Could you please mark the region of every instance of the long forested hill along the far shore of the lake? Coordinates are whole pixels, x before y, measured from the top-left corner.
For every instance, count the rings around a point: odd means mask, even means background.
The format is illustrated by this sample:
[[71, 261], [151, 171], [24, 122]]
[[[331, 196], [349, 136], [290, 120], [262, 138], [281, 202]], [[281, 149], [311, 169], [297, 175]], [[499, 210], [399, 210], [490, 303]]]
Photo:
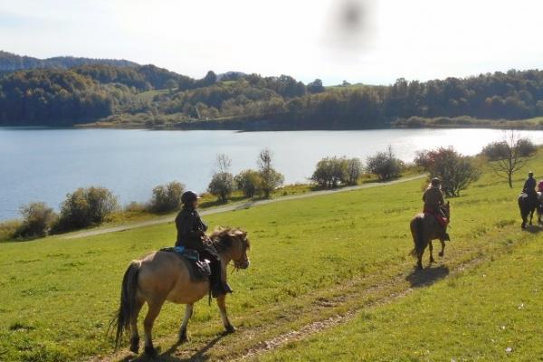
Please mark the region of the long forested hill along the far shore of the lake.
[[543, 71], [399, 79], [389, 86], [345, 81], [336, 87], [239, 71], [209, 71], [195, 80], [154, 65], [84, 64], [0, 78], [4, 125], [100, 121], [102, 126], [153, 129], [368, 129], [417, 126], [421, 118], [446, 123], [444, 118], [460, 116], [543, 116]]

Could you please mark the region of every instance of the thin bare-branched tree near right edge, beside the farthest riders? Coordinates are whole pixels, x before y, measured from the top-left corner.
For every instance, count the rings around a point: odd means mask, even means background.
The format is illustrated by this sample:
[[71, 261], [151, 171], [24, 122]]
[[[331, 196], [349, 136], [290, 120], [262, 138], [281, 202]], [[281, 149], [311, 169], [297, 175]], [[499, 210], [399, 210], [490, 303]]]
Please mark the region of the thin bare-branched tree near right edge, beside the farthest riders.
[[526, 138], [519, 138], [518, 132], [511, 129], [504, 133], [503, 139], [496, 144], [500, 145], [501, 151], [494, 157], [494, 162], [491, 162], [491, 168], [496, 175], [507, 179], [510, 188], [513, 188], [513, 174], [524, 167], [536, 152], [535, 147], [527, 151], [527, 142], [531, 143]]

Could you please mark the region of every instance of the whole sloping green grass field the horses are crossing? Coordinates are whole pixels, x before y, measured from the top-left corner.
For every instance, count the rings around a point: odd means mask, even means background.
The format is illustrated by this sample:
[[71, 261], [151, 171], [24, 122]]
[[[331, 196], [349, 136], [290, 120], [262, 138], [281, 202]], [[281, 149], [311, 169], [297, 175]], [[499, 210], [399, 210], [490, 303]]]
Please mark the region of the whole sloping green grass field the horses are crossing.
[[[251, 268], [231, 275], [228, 308], [238, 331], [222, 336], [216, 307], [201, 301], [191, 342], [176, 346], [183, 307], [167, 304], [154, 333], [160, 359], [252, 352], [273, 360], [496, 360], [508, 347], [513, 359], [541, 355], [543, 245], [538, 228], [520, 231], [516, 196], [524, 174], [511, 190], [487, 170], [452, 199], [452, 243], [423, 272], [408, 256], [421, 180], [206, 217], [212, 227], [243, 227], [252, 242]], [[163, 224], [1, 243], [0, 360], [129, 356], [112, 356], [105, 337], [122, 274], [130, 260], [174, 243], [175, 234], [173, 224]], [[310, 345], [292, 340], [266, 352], [267, 341], [346, 315], [352, 319], [312, 335]]]

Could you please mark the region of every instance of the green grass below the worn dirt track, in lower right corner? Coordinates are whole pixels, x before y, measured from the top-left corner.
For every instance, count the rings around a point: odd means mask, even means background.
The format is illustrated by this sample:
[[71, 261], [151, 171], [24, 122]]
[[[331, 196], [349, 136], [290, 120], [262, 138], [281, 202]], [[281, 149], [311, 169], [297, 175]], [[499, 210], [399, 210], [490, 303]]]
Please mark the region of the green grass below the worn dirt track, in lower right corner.
[[535, 240], [519, 243], [473, 270], [364, 310], [260, 360], [536, 360], [543, 355], [542, 256]]

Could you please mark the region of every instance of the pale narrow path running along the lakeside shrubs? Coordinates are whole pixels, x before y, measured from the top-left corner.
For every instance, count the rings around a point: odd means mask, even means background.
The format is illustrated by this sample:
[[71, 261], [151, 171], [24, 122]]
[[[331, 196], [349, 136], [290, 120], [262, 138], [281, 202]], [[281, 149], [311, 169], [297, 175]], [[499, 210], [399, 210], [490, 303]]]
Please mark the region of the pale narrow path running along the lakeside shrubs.
[[[308, 197], [316, 197], [320, 195], [330, 195], [330, 194], [337, 194], [342, 192], [348, 192], [348, 191], [354, 191], [354, 190], [360, 190], [365, 188], [373, 188], [373, 187], [380, 187], [380, 186], [390, 186], [395, 184], [401, 184], [404, 182], [409, 182], [413, 180], [417, 180], [420, 178], [425, 177], [426, 175], [418, 175], [418, 176], [410, 176], [405, 178], [400, 178], [394, 181], [389, 182], [383, 182], [383, 183], [371, 183], [371, 184], [364, 184], [359, 186], [348, 186], [348, 187], [342, 187], [338, 189], [333, 190], [322, 190], [322, 191], [314, 191], [306, 194], [300, 194], [300, 195], [291, 195], [291, 196], [281, 196], [278, 198], [271, 198], [267, 200], [258, 200], [253, 201], [245, 204], [238, 204], [238, 205], [227, 205], [227, 206], [221, 206], [221, 207], [214, 207], [208, 210], [203, 210], [200, 212], [201, 215], [208, 215], [208, 214], [220, 214], [220, 213], [226, 213], [229, 211], [234, 210], [243, 210], [248, 209], [254, 206], [260, 206], [260, 205], [266, 205], [271, 203], [278, 203], [281, 201], [289, 201], [289, 200], [298, 200], [302, 198], [308, 198]], [[137, 229], [139, 227], [146, 227], [146, 226], [153, 226], [153, 225], [159, 225], [159, 224], [167, 224], [172, 223], [174, 221], [173, 216], [167, 216], [167, 217], [161, 217], [153, 220], [148, 220], [140, 223], [134, 223], [134, 224], [124, 224], [119, 226], [111, 226], [106, 227], [102, 229], [95, 229], [95, 230], [89, 230], [89, 231], [83, 231], [83, 232], [77, 232], [77, 233], [69, 233], [65, 236], [62, 236], [62, 239], [79, 239], [82, 237], [88, 237], [88, 236], [94, 236], [94, 235], [101, 235], [102, 233], [115, 233], [115, 232], [124, 232], [127, 230]]]

